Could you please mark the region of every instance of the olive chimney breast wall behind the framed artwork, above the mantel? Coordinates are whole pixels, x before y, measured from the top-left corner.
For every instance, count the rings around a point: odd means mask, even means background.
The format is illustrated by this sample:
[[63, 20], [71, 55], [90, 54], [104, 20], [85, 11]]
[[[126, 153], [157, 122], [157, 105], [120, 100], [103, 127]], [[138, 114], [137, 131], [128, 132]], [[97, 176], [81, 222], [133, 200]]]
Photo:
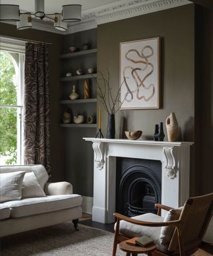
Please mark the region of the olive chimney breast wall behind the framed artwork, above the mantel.
[[[160, 37], [160, 109], [122, 110], [116, 114], [116, 138], [126, 130], [142, 130], [144, 139], [152, 139], [154, 125], [165, 123], [170, 112], [176, 113], [180, 127], [178, 140], [194, 141], [194, 5], [168, 9], [139, 17], [99, 25], [97, 29], [98, 69], [110, 71], [112, 87], [118, 88], [119, 44], [125, 41]], [[115, 89], [115, 91], [116, 91]], [[106, 135], [107, 113], [103, 111]], [[164, 133], [166, 128], [164, 125]], [[165, 137], [167, 140], [167, 135]], [[198, 189], [191, 163], [192, 194]]]

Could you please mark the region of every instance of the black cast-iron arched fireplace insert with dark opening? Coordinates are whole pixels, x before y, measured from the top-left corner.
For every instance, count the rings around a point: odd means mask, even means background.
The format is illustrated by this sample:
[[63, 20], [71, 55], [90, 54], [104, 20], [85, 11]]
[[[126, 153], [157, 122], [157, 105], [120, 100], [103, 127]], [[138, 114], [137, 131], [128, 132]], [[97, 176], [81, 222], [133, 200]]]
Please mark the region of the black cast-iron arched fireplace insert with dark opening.
[[161, 203], [161, 181], [149, 167], [133, 165], [122, 172], [118, 183], [116, 210], [130, 217], [156, 213], [155, 203]]

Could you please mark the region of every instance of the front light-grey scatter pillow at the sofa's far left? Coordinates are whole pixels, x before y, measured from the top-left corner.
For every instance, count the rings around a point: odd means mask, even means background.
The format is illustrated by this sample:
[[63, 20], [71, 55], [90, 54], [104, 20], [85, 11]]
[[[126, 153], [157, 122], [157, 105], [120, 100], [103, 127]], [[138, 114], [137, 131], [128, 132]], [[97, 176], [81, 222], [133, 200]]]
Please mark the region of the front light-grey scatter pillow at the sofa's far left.
[[24, 175], [25, 171], [0, 173], [0, 203], [21, 199], [21, 186]]

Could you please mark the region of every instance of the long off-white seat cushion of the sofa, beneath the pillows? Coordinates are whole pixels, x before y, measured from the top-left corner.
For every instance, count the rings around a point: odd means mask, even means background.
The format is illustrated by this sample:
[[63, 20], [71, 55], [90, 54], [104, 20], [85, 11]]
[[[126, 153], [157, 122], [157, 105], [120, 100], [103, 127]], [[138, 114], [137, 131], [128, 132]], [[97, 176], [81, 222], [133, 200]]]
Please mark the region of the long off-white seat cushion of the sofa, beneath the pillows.
[[5, 202], [3, 205], [11, 207], [12, 218], [19, 218], [77, 207], [80, 206], [81, 203], [81, 195], [72, 194], [26, 198], [21, 201]]

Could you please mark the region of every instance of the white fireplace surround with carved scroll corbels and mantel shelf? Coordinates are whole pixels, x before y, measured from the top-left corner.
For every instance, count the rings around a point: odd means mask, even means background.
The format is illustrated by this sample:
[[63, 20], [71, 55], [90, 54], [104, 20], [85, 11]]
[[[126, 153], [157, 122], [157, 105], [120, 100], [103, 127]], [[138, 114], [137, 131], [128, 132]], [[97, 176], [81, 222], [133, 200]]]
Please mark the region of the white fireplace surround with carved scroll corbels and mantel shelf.
[[93, 143], [94, 150], [93, 221], [114, 222], [116, 157], [160, 160], [161, 203], [179, 207], [188, 199], [192, 142], [84, 139]]

